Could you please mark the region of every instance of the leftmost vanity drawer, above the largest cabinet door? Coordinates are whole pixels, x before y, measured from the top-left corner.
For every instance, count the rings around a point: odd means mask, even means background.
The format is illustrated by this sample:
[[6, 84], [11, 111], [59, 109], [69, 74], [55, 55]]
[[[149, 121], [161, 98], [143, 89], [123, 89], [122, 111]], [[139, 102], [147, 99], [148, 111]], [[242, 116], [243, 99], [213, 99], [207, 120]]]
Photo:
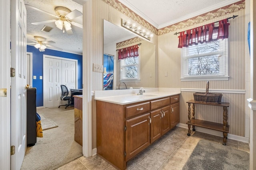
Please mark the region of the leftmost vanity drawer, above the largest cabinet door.
[[126, 109], [126, 118], [132, 117], [135, 115], [139, 115], [140, 113], [145, 113], [147, 111], [150, 111], [150, 103], [142, 103], [142, 104], [136, 104], [132, 106], [125, 107]]

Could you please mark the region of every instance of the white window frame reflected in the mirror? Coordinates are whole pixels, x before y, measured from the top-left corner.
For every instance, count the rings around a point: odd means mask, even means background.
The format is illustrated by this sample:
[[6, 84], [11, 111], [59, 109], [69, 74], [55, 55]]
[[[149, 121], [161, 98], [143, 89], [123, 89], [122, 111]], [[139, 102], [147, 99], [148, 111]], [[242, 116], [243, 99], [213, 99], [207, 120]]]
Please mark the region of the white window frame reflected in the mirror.
[[[137, 66], [137, 78], [124, 78], [124, 69], [123, 67], [126, 66]], [[138, 56], [138, 63], [137, 64], [125, 64], [125, 59], [120, 61], [120, 81], [122, 82], [140, 82], [140, 53]]]

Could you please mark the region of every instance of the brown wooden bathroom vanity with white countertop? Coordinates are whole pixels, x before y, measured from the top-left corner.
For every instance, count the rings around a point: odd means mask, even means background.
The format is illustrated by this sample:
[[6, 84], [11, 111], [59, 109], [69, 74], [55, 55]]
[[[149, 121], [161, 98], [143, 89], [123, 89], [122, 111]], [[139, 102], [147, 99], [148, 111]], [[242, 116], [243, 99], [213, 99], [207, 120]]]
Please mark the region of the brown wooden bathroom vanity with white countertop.
[[179, 123], [180, 89], [114, 91], [95, 92], [97, 154], [124, 170], [128, 160]]

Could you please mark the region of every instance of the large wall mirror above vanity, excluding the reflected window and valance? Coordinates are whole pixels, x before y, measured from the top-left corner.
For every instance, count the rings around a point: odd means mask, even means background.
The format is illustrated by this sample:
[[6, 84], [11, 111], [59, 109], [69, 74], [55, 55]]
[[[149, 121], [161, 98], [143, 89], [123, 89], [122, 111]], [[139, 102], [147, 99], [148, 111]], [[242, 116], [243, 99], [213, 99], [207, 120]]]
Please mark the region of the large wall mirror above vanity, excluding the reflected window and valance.
[[[155, 87], [155, 45], [138, 35], [104, 20], [103, 90]], [[118, 49], [138, 45], [139, 80], [122, 80]]]

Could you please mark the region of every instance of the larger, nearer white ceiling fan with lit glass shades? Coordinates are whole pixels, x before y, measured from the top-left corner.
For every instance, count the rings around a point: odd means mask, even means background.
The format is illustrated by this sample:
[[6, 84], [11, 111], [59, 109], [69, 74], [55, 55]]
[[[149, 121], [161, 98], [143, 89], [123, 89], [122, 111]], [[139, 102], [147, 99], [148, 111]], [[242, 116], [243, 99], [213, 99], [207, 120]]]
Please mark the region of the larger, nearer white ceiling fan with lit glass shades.
[[55, 13], [56, 14], [51, 14], [49, 12], [46, 12], [44, 10], [41, 10], [39, 8], [36, 8], [34, 6], [30, 6], [28, 4], [26, 4], [26, 7], [43, 12], [45, 14], [48, 14], [50, 16], [53, 16], [55, 18], [58, 18], [58, 20], [46, 20], [46, 21], [38, 21], [38, 22], [32, 22], [32, 24], [34, 25], [39, 25], [39, 24], [43, 24], [43, 23], [50, 23], [50, 22], [55, 22], [56, 27], [63, 30], [63, 33], [66, 31], [69, 35], [71, 35], [72, 32], [72, 28], [71, 25], [83, 28], [83, 25], [80, 23], [76, 23], [74, 21], [71, 21], [74, 18], [77, 18], [79, 16], [82, 16], [83, 14], [78, 11], [78, 10], [73, 10], [72, 12], [63, 6], [57, 6], [55, 8]]

